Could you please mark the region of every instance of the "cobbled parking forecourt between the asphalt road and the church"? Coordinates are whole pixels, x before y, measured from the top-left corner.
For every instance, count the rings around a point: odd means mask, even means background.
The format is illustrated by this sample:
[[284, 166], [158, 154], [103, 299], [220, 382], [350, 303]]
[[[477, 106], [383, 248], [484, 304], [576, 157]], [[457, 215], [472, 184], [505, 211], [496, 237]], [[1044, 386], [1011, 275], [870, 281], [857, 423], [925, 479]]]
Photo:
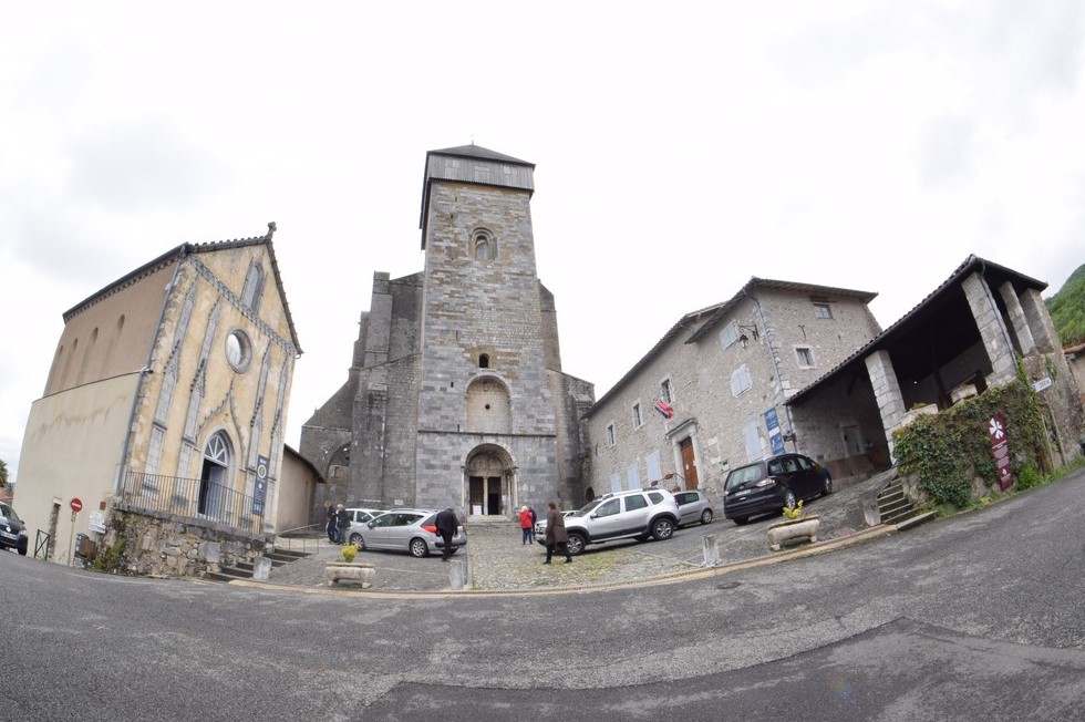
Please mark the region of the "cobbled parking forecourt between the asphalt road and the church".
[[[887, 475], [882, 474], [855, 483], [838, 483], [833, 495], [807, 503], [806, 510], [822, 519], [818, 543], [846, 538], [866, 529], [862, 506], [877, 498], [886, 481]], [[456, 579], [465, 580], [464, 589], [479, 591], [624, 585], [704, 568], [706, 535], [715, 537], [723, 565], [772, 557], [765, 530], [777, 520], [778, 517], [765, 517], [738, 527], [721, 517], [707, 526], [680, 529], [665, 543], [595, 545], [575, 557], [571, 564], [565, 564], [558, 557], [554, 564], [544, 565], [545, 549], [538, 544], [521, 544], [518, 524], [487, 519], [468, 525], [467, 547], [454, 557], [458, 565], [456, 569], [443, 564], [440, 555], [415, 559], [405, 553], [363, 551], [358, 560], [369, 561], [376, 569], [369, 591], [451, 591]], [[327, 589], [324, 565], [339, 558], [341, 547], [327, 539], [294, 539], [289, 544], [311, 556], [272, 569], [268, 581]]]

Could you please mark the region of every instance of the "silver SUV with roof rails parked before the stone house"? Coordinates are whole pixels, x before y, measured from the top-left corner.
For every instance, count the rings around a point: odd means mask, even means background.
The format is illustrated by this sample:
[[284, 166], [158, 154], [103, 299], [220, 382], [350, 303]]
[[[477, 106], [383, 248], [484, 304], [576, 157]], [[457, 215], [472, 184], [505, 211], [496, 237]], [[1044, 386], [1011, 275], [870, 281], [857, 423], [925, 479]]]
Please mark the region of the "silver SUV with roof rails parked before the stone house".
[[576, 556], [589, 544], [616, 539], [670, 539], [678, 527], [674, 496], [661, 488], [614, 492], [597, 497], [565, 519], [569, 554]]

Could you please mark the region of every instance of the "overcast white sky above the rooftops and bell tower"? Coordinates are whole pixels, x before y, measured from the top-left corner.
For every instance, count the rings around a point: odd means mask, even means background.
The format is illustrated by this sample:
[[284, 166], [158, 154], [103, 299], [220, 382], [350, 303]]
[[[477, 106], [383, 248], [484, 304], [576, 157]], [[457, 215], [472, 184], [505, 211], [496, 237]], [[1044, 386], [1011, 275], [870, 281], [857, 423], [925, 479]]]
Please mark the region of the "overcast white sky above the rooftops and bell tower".
[[[379, 7], [378, 7], [379, 6]], [[61, 314], [185, 243], [261, 236], [347, 379], [373, 271], [422, 270], [427, 151], [537, 164], [565, 371], [602, 395], [751, 276], [877, 291], [1085, 262], [1085, 6], [0, 0], [0, 458]]]

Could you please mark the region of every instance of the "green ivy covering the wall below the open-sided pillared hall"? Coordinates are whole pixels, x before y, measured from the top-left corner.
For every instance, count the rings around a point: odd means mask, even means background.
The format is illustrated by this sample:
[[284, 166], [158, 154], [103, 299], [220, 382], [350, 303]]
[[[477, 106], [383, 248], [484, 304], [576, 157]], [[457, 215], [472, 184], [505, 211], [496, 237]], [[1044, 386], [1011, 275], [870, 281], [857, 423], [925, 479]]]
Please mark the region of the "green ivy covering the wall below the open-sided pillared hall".
[[1045, 458], [1043, 414], [1021, 370], [1014, 383], [989, 389], [893, 432], [900, 471], [914, 474], [919, 488], [934, 504], [969, 506], [973, 479], [989, 487], [999, 482], [988, 432], [995, 414], [1005, 420], [1017, 488], [1035, 484]]

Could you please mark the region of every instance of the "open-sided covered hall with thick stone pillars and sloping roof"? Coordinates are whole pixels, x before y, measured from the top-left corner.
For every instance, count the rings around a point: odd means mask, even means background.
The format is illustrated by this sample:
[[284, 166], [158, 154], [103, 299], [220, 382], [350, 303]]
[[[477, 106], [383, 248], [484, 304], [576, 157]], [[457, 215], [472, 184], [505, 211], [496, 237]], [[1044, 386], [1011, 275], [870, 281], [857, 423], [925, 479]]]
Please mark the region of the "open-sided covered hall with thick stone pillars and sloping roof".
[[1048, 466], [1079, 457], [1079, 390], [1041, 293], [1047, 283], [970, 256], [916, 308], [787, 401], [800, 437], [825, 448], [840, 420], [892, 453], [917, 406], [943, 410], [1016, 379], [1020, 360], [1051, 434]]

